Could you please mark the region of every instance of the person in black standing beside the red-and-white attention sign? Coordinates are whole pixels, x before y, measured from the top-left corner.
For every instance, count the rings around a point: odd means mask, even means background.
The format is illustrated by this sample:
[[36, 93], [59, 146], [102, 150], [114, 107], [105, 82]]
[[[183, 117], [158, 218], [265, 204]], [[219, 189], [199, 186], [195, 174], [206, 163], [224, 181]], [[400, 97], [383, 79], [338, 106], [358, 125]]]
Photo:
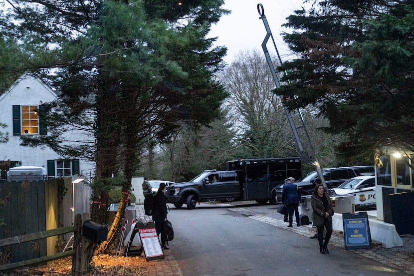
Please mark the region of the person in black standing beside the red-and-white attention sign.
[[159, 236], [161, 233], [162, 248], [170, 249], [167, 246], [167, 239], [165, 237], [165, 222], [167, 221], [167, 196], [165, 195], [166, 190], [167, 187], [165, 183], [161, 183], [157, 193], [155, 194], [152, 219], [155, 222], [155, 230], [157, 231], [157, 236]]

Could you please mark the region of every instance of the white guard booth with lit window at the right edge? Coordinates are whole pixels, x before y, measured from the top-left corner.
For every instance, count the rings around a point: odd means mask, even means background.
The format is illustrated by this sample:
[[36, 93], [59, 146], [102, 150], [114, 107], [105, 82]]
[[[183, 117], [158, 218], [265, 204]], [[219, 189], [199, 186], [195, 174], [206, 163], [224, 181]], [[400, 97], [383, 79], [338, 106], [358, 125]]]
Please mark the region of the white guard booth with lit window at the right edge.
[[377, 217], [399, 235], [414, 233], [414, 153], [389, 151], [376, 166]]

